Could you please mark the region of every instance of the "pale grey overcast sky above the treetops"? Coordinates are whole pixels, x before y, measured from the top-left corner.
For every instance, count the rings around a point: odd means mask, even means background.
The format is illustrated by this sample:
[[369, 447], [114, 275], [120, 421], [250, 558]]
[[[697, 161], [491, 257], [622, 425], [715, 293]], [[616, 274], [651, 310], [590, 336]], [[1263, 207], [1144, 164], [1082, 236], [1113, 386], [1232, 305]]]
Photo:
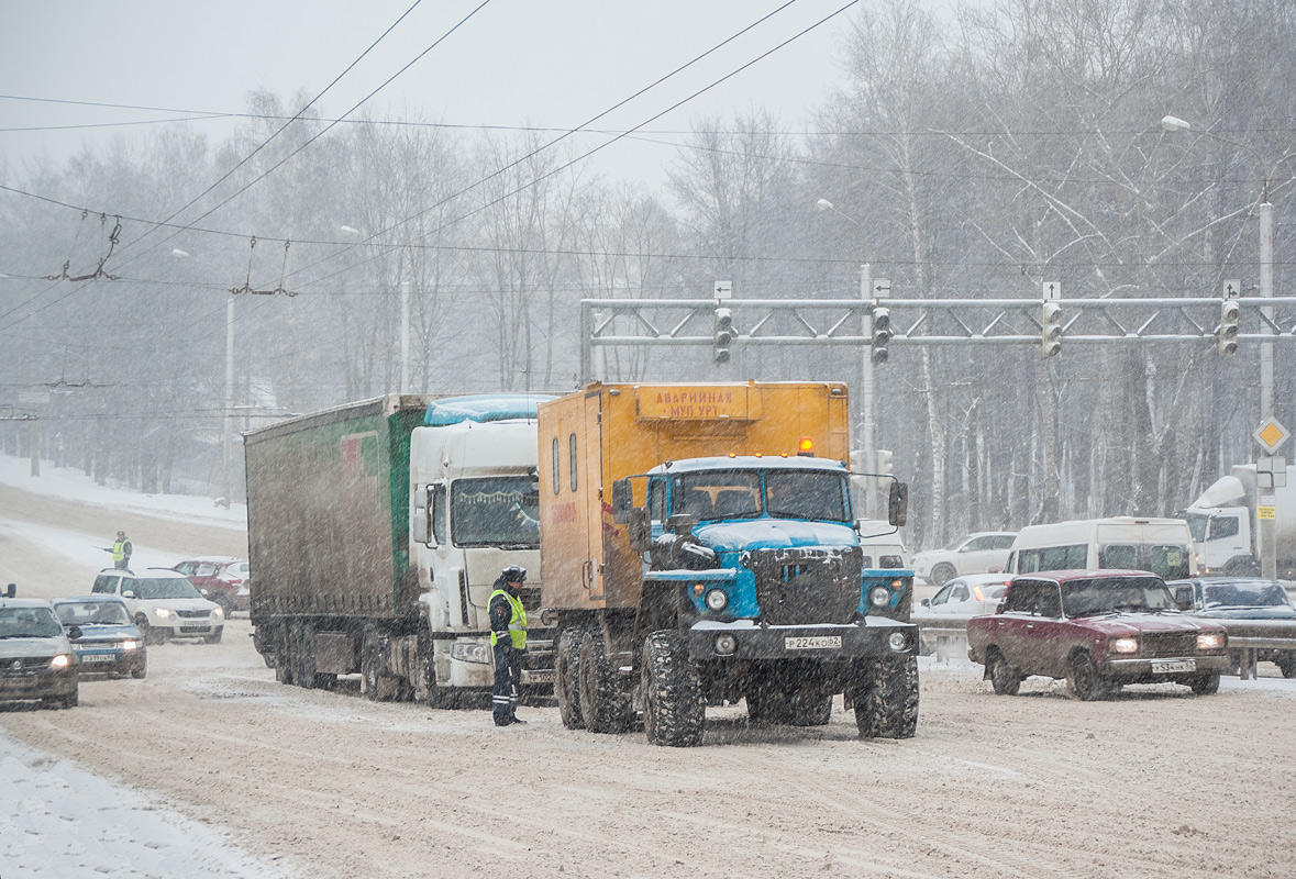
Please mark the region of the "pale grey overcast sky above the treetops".
[[[849, 0], [796, 0], [767, 22], [596, 127], [626, 129], [810, 27]], [[10, 172], [48, 150], [62, 161], [82, 144], [174, 119], [152, 110], [98, 109], [14, 98], [124, 104], [240, 113], [246, 96], [290, 98], [323, 91], [413, 0], [0, 0], [0, 154]], [[380, 118], [455, 124], [584, 123], [640, 88], [778, 9], [784, 0], [489, 0], [365, 104]], [[413, 61], [481, 0], [424, 0], [320, 102], [342, 115]], [[794, 129], [842, 80], [842, 40], [859, 4], [649, 126], [678, 142], [704, 114], [766, 106]], [[109, 126], [88, 128], [87, 126]], [[229, 120], [193, 123], [215, 140]], [[71, 127], [16, 131], [27, 127]], [[582, 151], [597, 145], [581, 137]], [[670, 145], [621, 141], [596, 166], [617, 177], [660, 183]]]

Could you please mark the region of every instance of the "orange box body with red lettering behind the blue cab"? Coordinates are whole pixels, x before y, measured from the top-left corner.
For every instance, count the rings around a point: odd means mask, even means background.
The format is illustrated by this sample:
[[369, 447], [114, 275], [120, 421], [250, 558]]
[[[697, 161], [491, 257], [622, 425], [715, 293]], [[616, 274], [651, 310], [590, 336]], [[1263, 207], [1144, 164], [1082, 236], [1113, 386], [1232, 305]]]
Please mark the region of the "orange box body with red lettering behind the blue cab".
[[684, 458], [794, 456], [804, 438], [846, 461], [850, 404], [841, 382], [596, 382], [542, 403], [539, 436], [543, 606], [630, 608], [640, 561], [612, 520], [614, 480]]

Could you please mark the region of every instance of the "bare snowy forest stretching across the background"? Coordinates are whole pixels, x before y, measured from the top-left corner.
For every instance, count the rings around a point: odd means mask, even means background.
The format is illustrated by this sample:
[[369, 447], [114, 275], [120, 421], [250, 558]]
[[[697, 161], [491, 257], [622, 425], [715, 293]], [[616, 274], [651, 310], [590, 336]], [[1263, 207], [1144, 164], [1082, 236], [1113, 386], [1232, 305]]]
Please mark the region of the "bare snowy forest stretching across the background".
[[[565, 392], [583, 298], [705, 298], [717, 280], [739, 299], [854, 298], [862, 261], [906, 299], [1033, 298], [1046, 277], [1068, 298], [1249, 291], [1266, 189], [1290, 291], [1296, 3], [936, 18], [880, 0], [842, 48], [851, 85], [806, 96], [811, 131], [759, 107], [695, 119], [660, 190], [599, 179], [555, 135], [332, 126], [321, 107], [294, 118], [302, 95], [250, 96], [227, 141], [176, 124], [64, 163], [0, 157], [0, 416], [38, 414], [44, 458], [101, 482], [211, 493], [231, 298], [242, 430], [395, 391], [402, 285], [412, 391]], [[1168, 114], [1191, 129], [1164, 131]], [[710, 353], [609, 351], [603, 378], [859, 375], [859, 351]], [[1292, 356], [1277, 346], [1288, 426]], [[877, 445], [911, 483], [914, 549], [1172, 513], [1253, 457], [1258, 412], [1255, 346], [1064, 339], [1042, 360], [893, 343], [877, 368]], [[0, 422], [5, 452], [32, 435]]]

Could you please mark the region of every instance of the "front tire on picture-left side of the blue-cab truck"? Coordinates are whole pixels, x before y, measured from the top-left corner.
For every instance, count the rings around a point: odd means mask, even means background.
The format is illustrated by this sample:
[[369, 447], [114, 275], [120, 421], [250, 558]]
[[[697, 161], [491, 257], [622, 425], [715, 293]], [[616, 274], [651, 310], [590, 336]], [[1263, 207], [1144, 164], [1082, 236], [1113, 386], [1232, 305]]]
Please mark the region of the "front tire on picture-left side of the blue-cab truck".
[[701, 744], [706, 703], [683, 636], [673, 630], [651, 633], [644, 638], [640, 664], [648, 740], [670, 747]]

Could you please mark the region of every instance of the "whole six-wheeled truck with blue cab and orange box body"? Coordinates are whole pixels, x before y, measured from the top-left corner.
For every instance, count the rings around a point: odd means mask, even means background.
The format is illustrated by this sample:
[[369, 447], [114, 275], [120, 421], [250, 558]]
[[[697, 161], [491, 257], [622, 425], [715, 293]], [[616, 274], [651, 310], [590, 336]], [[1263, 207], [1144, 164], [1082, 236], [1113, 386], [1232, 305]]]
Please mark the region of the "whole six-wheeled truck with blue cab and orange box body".
[[539, 436], [564, 725], [696, 746], [708, 704], [810, 726], [840, 693], [861, 737], [914, 735], [914, 575], [864, 561], [845, 384], [591, 384]]

